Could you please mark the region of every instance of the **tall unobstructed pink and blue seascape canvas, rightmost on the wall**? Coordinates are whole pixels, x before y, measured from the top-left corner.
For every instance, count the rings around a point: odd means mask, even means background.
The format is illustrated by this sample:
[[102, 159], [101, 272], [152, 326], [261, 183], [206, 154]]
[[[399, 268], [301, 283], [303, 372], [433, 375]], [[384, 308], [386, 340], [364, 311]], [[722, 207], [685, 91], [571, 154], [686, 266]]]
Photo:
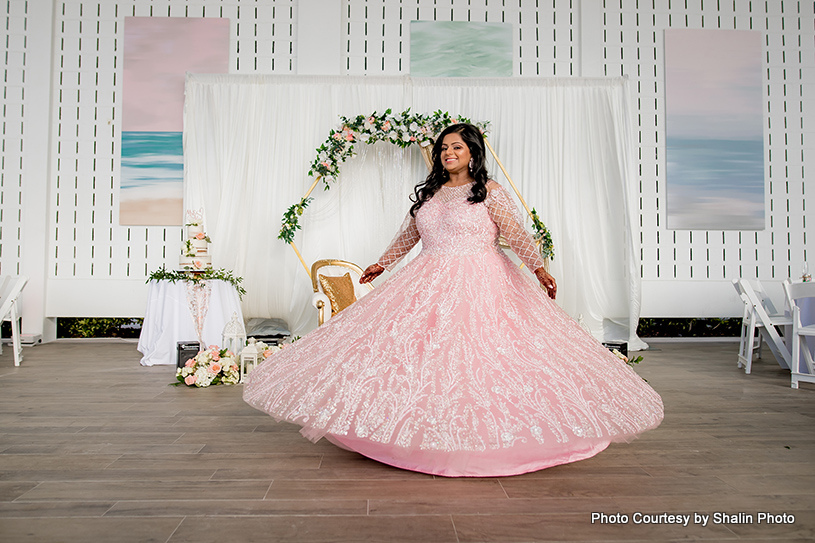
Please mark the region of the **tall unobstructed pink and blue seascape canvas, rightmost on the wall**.
[[765, 228], [761, 32], [665, 30], [667, 223]]

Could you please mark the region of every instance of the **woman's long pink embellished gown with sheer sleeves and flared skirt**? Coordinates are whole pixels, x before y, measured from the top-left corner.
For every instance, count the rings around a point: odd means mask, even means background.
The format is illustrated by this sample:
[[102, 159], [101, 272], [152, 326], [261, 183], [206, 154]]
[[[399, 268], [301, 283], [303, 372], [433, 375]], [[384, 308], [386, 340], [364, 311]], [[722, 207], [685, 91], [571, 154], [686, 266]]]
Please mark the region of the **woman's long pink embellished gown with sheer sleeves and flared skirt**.
[[380, 259], [380, 287], [248, 377], [278, 420], [400, 468], [516, 475], [594, 456], [663, 417], [659, 395], [507, 258], [541, 264], [502, 188], [442, 189]]

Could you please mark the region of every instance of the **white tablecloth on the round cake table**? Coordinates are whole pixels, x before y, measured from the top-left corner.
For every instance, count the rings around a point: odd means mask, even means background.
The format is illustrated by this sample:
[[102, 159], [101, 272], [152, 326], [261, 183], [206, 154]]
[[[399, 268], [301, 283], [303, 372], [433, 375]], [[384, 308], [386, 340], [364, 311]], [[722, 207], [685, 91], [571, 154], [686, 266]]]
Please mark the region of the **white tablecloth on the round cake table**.
[[238, 291], [225, 281], [150, 281], [139, 336], [141, 365], [174, 366], [179, 341], [220, 346], [233, 313], [243, 321]]

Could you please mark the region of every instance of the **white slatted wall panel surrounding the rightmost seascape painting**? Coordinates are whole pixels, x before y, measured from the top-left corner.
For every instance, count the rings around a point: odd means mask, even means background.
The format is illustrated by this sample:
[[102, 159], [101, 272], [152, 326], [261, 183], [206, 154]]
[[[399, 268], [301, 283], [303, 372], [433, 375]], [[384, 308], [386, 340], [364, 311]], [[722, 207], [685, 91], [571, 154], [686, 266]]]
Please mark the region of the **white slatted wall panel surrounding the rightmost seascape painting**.
[[[811, 53], [815, 34], [813, 3], [610, 0], [603, 9], [604, 73], [626, 74], [640, 83], [635, 103], [642, 145], [638, 181], [642, 276], [647, 283], [643, 292], [644, 296], [656, 297], [643, 300], [643, 315], [697, 316], [692, 304], [679, 303], [676, 297], [663, 294], [680, 284], [682, 295], [693, 300], [709, 300], [711, 285], [719, 285], [723, 292], [712, 298], [721, 302], [718, 314], [739, 314], [732, 287], [717, 281], [743, 275], [780, 282], [800, 274], [806, 258], [807, 228], [812, 225], [805, 224], [804, 209], [807, 203], [815, 205], [808, 201], [815, 190], [805, 190], [804, 177], [815, 158], [812, 149], [807, 148], [805, 132], [805, 120], [813, 113], [813, 99], [804, 90], [815, 82], [810, 73], [815, 64]], [[662, 36], [666, 28], [764, 32], [765, 231], [674, 232], [665, 228]], [[728, 299], [732, 303], [726, 303]], [[713, 311], [715, 304], [705, 304]]]

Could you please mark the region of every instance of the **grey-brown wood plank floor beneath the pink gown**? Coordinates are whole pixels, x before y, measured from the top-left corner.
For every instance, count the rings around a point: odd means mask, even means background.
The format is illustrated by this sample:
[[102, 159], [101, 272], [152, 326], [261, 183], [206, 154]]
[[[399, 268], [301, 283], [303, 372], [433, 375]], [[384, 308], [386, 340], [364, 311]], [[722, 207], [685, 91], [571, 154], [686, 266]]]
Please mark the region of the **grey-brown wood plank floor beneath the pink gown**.
[[652, 347], [638, 371], [664, 399], [658, 429], [484, 479], [313, 444], [240, 386], [168, 386], [132, 342], [31, 347], [20, 368], [6, 348], [0, 541], [815, 540], [815, 385], [791, 389], [769, 353], [744, 375], [733, 342]]

